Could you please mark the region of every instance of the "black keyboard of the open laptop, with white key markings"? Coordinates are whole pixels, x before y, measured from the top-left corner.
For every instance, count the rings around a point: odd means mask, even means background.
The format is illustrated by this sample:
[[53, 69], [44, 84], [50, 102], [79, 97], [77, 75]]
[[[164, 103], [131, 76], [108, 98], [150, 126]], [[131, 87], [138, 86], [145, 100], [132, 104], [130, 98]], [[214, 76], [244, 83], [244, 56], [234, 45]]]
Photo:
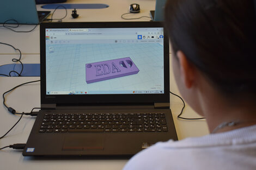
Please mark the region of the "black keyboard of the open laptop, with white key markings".
[[39, 133], [166, 132], [166, 116], [149, 114], [45, 114]]

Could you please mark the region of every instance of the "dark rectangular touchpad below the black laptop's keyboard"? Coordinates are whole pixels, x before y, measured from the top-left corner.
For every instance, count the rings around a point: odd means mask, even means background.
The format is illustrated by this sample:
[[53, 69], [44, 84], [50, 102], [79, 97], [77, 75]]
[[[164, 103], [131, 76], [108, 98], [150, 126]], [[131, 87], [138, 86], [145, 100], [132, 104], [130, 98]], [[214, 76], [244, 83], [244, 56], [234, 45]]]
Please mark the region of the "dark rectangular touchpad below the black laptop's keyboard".
[[65, 138], [63, 150], [103, 150], [104, 138], [101, 136], [68, 136]]

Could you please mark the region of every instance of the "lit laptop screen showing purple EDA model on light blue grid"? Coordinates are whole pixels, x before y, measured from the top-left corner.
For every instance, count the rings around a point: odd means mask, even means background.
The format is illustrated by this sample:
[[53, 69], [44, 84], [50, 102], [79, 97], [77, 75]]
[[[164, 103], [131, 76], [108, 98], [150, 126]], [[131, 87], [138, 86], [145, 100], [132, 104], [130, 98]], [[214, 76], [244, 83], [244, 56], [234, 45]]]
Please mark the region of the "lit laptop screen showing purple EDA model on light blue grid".
[[46, 95], [164, 93], [163, 28], [45, 28]]

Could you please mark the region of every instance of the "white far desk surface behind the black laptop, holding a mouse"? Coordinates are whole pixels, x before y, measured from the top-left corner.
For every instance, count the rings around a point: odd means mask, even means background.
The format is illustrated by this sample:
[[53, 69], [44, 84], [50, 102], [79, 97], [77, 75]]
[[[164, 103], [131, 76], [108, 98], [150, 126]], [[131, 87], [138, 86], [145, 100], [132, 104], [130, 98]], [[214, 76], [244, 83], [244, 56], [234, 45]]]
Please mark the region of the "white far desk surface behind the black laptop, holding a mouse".
[[[67, 3], [102, 3], [108, 4], [109, 7], [105, 9], [77, 9], [79, 17], [74, 19], [71, 17], [72, 10], [68, 9], [68, 15], [63, 19], [63, 22], [98, 22], [98, 21], [150, 21], [150, 18], [141, 18], [139, 20], [124, 20], [121, 15], [129, 12], [130, 4], [138, 3], [141, 7], [139, 14], [129, 14], [125, 17], [140, 17], [150, 16], [150, 10], [155, 9], [155, 0], [68, 0]], [[53, 9], [43, 9], [42, 5], [37, 5], [37, 9], [40, 11], [52, 11]], [[54, 12], [53, 18], [62, 18], [65, 16], [65, 9], [57, 9]], [[51, 18], [49, 16], [48, 18]], [[21, 25], [17, 30], [31, 30], [34, 25]], [[0, 42], [11, 43], [16, 48], [21, 49], [25, 54], [39, 54], [39, 26], [31, 33], [15, 33], [9, 29], [0, 27]], [[0, 45], [0, 54], [15, 54], [15, 51], [11, 47], [5, 47]]]

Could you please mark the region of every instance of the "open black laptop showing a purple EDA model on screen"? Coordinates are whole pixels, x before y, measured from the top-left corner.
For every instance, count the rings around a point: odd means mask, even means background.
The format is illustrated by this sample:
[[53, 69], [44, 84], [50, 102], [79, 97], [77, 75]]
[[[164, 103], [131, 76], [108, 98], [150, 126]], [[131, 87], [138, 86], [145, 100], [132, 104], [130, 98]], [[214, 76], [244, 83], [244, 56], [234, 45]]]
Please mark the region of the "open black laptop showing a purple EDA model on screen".
[[24, 156], [132, 156], [177, 140], [160, 22], [41, 23], [40, 67]]

